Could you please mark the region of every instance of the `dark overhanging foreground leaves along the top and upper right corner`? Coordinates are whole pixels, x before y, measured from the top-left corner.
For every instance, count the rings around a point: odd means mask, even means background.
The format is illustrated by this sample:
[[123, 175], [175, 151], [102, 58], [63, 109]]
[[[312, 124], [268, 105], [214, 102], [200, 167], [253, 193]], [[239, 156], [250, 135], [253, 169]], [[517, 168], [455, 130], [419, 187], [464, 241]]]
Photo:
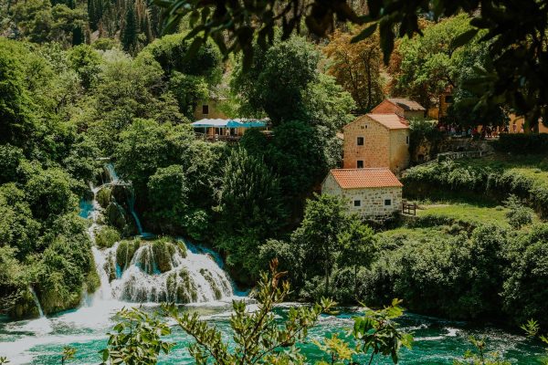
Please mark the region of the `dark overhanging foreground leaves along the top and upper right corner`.
[[485, 29], [483, 40], [490, 45], [492, 65], [481, 70], [477, 83], [484, 91], [478, 108], [505, 103], [527, 120], [548, 120], [548, 4], [543, 0], [367, 0], [362, 6], [343, 0], [156, 0], [167, 7], [167, 29], [188, 16], [194, 39], [191, 49], [211, 37], [227, 56], [243, 53], [244, 65], [251, 65], [253, 43], [269, 47], [275, 27], [282, 38], [306, 26], [316, 36], [327, 36], [336, 23], [363, 25], [354, 37], [360, 41], [378, 29], [385, 63], [395, 39], [421, 34], [419, 18], [437, 21], [459, 12], [473, 15], [473, 29], [456, 36], [463, 45]]

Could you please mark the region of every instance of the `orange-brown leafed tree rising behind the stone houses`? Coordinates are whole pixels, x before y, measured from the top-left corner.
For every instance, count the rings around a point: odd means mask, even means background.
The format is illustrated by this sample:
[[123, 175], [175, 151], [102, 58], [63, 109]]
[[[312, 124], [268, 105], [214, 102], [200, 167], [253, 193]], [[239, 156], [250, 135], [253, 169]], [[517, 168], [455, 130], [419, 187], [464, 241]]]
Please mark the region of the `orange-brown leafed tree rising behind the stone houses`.
[[372, 110], [383, 98], [381, 78], [382, 51], [378, 33], [359, 42], [353, 37], [363, 27], [355, 27], [351, 32], [336, 30], [323, 52], [330, 59], [328, 73], [337, 79], [342, 87], [350, 92], [358, 113]]

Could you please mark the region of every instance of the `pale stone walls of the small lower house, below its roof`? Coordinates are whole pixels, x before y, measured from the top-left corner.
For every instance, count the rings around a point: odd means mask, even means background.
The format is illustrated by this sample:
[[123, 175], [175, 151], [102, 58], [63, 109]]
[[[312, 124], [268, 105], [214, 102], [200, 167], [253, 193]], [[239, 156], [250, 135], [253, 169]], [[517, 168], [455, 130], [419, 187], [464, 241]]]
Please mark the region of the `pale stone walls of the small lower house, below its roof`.
[[[375, 220], [402, 210], [401, 187], [344, 190], [330, 173], [321, 186], [321, 193], [339, 196], [346, 204], [349, 213], [360, 214], [364, 219]], [[386, 199], [391, 200], [390, 205], [385, 205]], [[354, 206], [356, 200], [361, 202], [360, 206]]]

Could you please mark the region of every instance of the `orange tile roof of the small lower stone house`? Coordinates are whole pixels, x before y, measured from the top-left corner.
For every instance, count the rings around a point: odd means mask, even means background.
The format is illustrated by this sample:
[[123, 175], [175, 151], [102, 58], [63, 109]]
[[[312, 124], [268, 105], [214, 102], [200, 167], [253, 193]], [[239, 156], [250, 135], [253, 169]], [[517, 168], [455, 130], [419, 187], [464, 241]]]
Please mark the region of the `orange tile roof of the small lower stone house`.
[[403, 183], [387, 168], [333, 169], [335, 181], [342, 189], [402, 187]]

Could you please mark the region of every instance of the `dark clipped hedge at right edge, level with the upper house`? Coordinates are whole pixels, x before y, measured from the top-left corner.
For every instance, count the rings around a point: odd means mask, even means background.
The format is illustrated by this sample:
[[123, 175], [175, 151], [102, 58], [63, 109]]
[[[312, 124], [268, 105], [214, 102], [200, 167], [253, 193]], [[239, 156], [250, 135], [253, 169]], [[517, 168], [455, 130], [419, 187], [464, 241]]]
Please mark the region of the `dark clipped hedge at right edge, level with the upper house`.
[[540, 134], [501, 134], [493, 147], [496, 151], [517, 154], [548, 153], [548, 133]]

